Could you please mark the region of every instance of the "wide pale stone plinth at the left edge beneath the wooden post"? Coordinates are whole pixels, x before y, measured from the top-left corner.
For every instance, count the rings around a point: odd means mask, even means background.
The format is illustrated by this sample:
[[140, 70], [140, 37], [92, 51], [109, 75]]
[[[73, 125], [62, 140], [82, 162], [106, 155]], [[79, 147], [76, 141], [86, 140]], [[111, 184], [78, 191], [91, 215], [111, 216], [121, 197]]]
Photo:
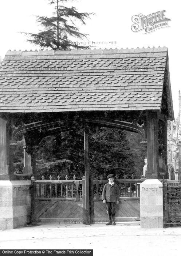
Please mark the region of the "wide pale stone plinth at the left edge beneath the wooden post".
[[31, 181], [0, 180], [0, 229], [24, 226], [31, 216]]

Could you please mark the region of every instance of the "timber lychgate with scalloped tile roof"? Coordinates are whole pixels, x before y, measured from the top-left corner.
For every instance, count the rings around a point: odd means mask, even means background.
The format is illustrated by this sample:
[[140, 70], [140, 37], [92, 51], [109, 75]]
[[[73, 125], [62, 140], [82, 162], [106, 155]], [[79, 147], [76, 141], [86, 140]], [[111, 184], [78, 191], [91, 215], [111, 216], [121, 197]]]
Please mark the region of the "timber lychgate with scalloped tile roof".
[[[141, 134], [147, 144], [146, 178], [166, 177], [167, 120], [174, 119], [166, 47], [8, 51], [0, 71], [0, 91], [1, 227], [18, 227], [41, 216], [47, 222], [54, 216], [59, 222], [66, 212], [87, 224], [99, 219], [101, 186], [106, 181], [90, 179], [88, 133], [94, 125]], [[37, 180], [40, 140], [71, 131], [75, 117], [84, 127], [84, 177]], [[20, 134], [24, 173], [15, 175], [12, 151]], [[124, 187], [118, 218], [139, 217], [141, 180], [117, 182], [120, 190]], [[29, 191], [23, 193], [23, 188]]]

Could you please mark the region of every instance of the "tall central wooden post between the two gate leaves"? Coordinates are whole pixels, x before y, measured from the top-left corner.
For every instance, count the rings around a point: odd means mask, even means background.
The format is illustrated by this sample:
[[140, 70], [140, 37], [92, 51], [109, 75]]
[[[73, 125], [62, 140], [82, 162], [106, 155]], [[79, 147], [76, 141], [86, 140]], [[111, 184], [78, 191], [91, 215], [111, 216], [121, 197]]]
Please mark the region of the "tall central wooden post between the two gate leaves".
[[84, 122], [84, 165], [85, 165], [85, 221], [90, 224], [90, 167], [89, 167], [89, 143], [88, 143], [88, 125]]

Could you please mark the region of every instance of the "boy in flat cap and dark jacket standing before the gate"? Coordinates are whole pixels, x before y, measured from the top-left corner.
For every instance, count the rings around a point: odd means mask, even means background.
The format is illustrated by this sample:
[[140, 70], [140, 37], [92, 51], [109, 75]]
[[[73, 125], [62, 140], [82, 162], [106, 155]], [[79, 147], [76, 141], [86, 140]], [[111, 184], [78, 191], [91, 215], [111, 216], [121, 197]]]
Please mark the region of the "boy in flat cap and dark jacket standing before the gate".
[[115, 226], [115, 207], [116, 204], [119, 204], [119, 187], [114, 183], [114, 174], [109, 174], [107, 178], [109, 182], [104, 185], [102, 191], [102, 200], [106, 204], [107, 214], [109, 216], [109, 222], [106, 225], [113, 224]]

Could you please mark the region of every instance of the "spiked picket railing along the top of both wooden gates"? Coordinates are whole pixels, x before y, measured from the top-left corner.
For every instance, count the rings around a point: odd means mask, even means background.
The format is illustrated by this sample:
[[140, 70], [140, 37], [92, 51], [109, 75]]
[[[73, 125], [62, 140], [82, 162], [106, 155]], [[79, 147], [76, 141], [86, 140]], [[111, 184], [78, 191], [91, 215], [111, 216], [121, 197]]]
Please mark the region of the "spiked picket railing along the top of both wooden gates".
[[[114, 180], [119, 186], [120, 197], [139, 197], [142, 179]], [[34, 180], [31, 178], [35, 198], [59, 198], [82, 200], [85, 179], [82, 180]], [[94, 200], [102, 200], [102, 190], [107, 180], [91, 180]]]

